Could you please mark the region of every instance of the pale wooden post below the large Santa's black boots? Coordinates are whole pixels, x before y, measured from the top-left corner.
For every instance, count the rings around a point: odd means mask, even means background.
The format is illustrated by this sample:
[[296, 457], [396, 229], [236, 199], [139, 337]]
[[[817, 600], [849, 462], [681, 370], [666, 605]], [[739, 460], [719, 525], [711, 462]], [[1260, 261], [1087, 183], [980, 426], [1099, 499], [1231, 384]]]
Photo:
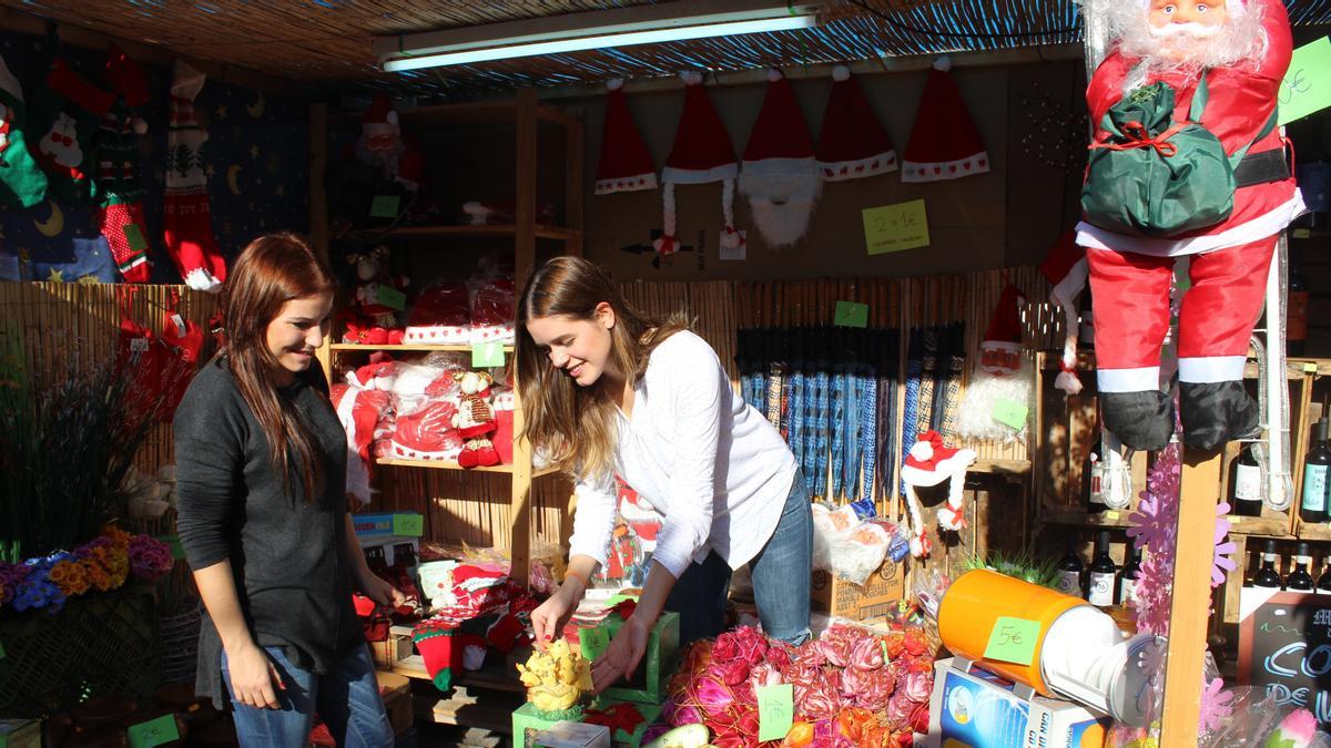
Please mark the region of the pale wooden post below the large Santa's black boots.
[[1183, 449], [1161, 745], [1197, 744], [1219, 484], [1221, 451]]

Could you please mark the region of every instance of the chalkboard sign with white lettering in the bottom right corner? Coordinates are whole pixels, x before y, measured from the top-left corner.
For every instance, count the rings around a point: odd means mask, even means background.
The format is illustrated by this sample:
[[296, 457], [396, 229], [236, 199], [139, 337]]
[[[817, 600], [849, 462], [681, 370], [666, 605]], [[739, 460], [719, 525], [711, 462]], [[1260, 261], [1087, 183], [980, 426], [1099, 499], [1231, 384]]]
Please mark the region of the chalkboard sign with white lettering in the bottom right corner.
[[1239, 683], [1331, 729], [1331, 595], [1280, 592], [1239, 624]]

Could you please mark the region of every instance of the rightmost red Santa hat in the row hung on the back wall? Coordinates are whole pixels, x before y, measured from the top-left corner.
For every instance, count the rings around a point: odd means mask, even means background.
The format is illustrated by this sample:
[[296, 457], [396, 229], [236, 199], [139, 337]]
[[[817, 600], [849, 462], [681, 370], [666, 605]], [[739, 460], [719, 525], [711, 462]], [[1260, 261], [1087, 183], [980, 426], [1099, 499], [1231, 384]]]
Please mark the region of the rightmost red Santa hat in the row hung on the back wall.
[[944, 56], [933, 64], [924, 84], [910, 144], [901, 160], [901, 181], [934, 182], [957, 180], [989, 170], [989, 153], [980, 130], [961, 100]]

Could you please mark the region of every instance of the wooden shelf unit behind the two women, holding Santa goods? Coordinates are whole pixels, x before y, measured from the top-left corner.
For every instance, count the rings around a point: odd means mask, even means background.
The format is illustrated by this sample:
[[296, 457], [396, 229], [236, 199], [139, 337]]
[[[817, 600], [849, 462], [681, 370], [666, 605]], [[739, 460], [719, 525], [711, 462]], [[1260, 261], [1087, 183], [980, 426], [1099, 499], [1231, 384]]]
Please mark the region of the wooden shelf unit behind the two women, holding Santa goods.
[[[550, 240], [563, 244], [563, 254], [582, 256], [583, 250], [583, 124], [576, 116], [567, 114], [548, 104], [536, 100], [535, 89], [522, 89], [516, 97], [507, 101], [480, 101], [469, 104], [446, 104], [438, 106], [421, 106], [399, 112], [402, 122], [407, 126], [446, 128], [465, 124], [514, 124], [515, 152], [516, 152], [516, 220], [512, 225], [498, 226], [402, 226], [389, 233], [389, 241], [413, 238], [447, 238], [447, 237], [495, 237], [511, 238], [514, 242], [514, 287], [522, 289], [527, 277], [535, 270], [536, 241]], [[341, 117], [339, 117], [341, 118]], [[322, 105], [311, 116], [311, 136], [315, 136], [317, 122], [326, 122], [327, 116]], [[551, 226], [536, 222], [536, 126], [539, 121], [554, 122], [564, 129], [564, 200], [566, 200], [566, 226]], [[315, 162], [326, 160], [327, 145], [326, 132], [317, 134], [314, 144]], [[319, 180], [311, 180], [315, 182]], [[322, 190], [314, 190], [311, 198], [322, 200]], [[317, 213], [317, 222], [311, 232], [322, 249], [327, 249], [326, 212]], [[354, 343], [333, 343], [326, 339], [317, 355], [323, 366], [329, 381], [333, 381], [335, 357], [365, 351], [470, 351], [467, 345], [399, 345], [399, 346], [366, 346]], [[512, 353], [512, 346], [504, 346], [506, 353]], [[514, 381], [514, 385], [516, 382]], [[516, 402], [514, 393], [514, 434], [523, 430], [522, 407]], [[473, 468], [473, 471], [504, 474], [511, 476], [510, 507], [512, 523], [510, 527], [508, 548], [512, 559], [512, 578], [519, 584], [527, 584], [528, 564], [531, 560], [531, 503], [532, 480], [539, 475], [552, 471], [538, 471], [531, 463], [531, 445], [526, 439], [516, 439], [512, 450], [514, 461], [511, 466], [498, 466], [490, 468]], [[435, 463], [429, 461], [378, 461], [379, 465], [397, 470], [435, 468], [435, 470], [463, 470], [457, 465]], [[499, 543], [499, 538], [494, 539]], [[418, 677], [419, 673], [406, 673]]]

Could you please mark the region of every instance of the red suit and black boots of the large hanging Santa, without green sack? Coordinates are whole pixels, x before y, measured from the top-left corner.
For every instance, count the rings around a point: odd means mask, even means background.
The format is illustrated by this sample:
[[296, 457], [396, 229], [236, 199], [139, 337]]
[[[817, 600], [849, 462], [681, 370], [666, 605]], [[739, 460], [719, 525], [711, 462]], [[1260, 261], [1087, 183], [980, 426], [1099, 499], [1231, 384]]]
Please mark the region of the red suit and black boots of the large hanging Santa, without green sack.
[[[1179, 63], [1178, 55], [1154, 60], [1135, 55], [1131, 32], [1123, 31], [1130, 29], [1127, 24], [1146, 29], [1135, 39], [1158, 40], [1175, 28], [1170, 24], [1187, 20], [1194, 21], [1193, 29], [1205, 29], [1195, 21], [1206, 17], [1197, 13], [1215, 13], [1219, 8], [1225, 19], [1219, 28], [1239, 39], [1235, 29], [1246, 24], [1252, 41], [1244, 48], [1244, 59], [1225, 60], [1206, 73], [1210, 98], [1203, 125], [1226, 153], [1252, 144], [1235, 170], [1239, 186], [1230, 217], [1171, 238], [1125, 236], [1085, 221], [1077, 226], [1077, 244], [1086, 248], [1090, 264], [1105, 427], [1133, 449], [1162, 449], [1174, 431], [1173, 403], [1159, 390], [1159, 357], [1170, 323], [1174, 261], [1190, 256], [1191, 287], [1179, 313], [1179, 417], [1183, 442], [1210, 450], [1256, 430], [1256, 403], [1242, 385], [1248, 337], [1262, 313], [1276, 236], [1303, 212], [1279, 128], [1254, 142], [1275, 109], [1290, 65], [1290, 19], [1279, 0], [1210, 0], [1211, 7], [1203, 7], [1201, 0], [1095, 4], [1103, 5], [1101, 12], [1110, 20], [1117, 17], [1119, 28], [1110, 24], [1115, 45], [1086, 91], [1087, 109], [1097, 122], [1093, 142], [1107, 137], [1099, 122], [1110, 106], [1127, 91], [1155, 81], [1174, 88], [1174, 121], [1187, 121], [1201, 68], [1214, 64], [1186, 64], [1186, 57]], [[1214, 41], [1211, 45], [1210, 53], [1223, 59], [1223, 48]], [[1169, 63], [1162, 64], [1165, 60]]]

